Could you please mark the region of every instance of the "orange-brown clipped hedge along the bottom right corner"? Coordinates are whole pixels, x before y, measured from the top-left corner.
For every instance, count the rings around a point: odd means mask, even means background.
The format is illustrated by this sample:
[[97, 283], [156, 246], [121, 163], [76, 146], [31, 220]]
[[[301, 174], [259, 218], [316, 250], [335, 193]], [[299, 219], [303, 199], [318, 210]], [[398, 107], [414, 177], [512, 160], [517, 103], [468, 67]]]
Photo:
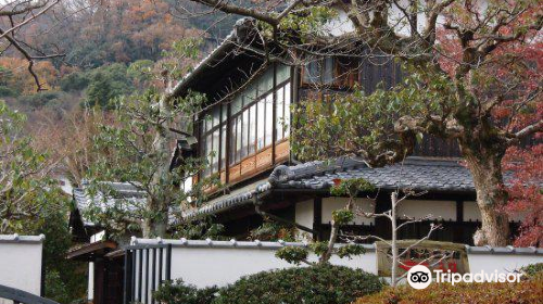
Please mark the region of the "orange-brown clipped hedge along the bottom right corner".
[[450, 304], [515, 303], [539, 304], [543, 299], [543, 281], [519, 283], [432, 283], [416, 290], [402, 286], [358, 299], [355, 304]]

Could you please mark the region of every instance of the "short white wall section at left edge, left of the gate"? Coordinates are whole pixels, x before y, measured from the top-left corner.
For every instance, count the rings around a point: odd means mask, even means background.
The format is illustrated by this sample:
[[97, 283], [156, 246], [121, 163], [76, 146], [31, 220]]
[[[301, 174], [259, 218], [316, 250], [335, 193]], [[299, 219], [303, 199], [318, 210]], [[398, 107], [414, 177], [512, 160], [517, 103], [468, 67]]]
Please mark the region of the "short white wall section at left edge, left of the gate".
[[40, 295], [43, 239], [0, 235], [0, 284]]

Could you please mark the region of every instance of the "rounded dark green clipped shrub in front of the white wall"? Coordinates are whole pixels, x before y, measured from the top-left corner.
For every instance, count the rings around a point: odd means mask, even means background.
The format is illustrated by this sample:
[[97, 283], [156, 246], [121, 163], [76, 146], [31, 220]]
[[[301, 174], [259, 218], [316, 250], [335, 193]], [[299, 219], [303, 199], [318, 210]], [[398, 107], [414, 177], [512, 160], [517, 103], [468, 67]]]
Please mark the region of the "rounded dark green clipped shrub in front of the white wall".
[[378, 292], [375, 275], [344, 266], [319, 265], [263, 271], [223, 288], [213, 304], [343, 304]]

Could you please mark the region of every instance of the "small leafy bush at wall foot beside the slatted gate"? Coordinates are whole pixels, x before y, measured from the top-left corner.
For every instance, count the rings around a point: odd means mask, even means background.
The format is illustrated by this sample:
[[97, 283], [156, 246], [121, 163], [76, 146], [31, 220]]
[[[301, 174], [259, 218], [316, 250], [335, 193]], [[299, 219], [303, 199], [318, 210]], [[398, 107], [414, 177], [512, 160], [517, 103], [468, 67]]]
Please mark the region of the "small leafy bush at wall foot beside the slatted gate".
[[163, 304], [210, 304], [217, 291], [216, 287], [198, 289], [182, 280], [176, 280], [175, 283], [164, 282], [153, 295], [155, 301]]

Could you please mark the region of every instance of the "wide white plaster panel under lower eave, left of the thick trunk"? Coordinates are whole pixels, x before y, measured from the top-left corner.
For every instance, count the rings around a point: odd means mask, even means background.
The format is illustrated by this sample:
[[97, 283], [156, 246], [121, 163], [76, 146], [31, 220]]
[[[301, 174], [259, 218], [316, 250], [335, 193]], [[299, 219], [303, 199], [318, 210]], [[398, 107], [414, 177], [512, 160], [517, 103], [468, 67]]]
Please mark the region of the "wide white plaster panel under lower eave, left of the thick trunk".
[[432, 219], [456, 220], [456, 202], [407, 200], [400, 203], [396, 214], [415, 218], [431, 214]]

